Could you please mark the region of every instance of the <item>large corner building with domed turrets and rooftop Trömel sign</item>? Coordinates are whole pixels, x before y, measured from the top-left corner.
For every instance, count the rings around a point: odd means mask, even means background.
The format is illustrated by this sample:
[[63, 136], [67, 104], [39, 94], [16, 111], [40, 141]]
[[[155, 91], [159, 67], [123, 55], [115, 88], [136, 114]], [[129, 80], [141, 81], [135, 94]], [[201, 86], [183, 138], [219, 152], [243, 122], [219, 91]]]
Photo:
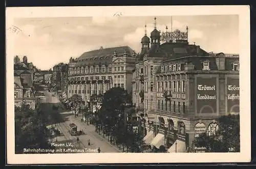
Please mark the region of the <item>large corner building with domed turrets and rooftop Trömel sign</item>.
[[239, 113], [239, 55], [206, 52], [188, 44], [187, 32], [155, 26], [151, 41], [141, 40], [133, 75], [144, 140], [168, 152], [194, 150], [199, 133], [216, 133], [218, 117]]

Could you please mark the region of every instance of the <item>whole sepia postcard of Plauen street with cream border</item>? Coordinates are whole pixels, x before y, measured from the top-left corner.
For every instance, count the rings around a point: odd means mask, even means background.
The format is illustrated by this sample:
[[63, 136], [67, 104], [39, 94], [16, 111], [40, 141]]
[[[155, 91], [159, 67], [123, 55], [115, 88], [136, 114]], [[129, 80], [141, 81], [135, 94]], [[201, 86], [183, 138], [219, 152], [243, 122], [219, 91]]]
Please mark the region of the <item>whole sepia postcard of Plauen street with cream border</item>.
[[7, 8], [8, 164], [250, 161], [249, 12]]

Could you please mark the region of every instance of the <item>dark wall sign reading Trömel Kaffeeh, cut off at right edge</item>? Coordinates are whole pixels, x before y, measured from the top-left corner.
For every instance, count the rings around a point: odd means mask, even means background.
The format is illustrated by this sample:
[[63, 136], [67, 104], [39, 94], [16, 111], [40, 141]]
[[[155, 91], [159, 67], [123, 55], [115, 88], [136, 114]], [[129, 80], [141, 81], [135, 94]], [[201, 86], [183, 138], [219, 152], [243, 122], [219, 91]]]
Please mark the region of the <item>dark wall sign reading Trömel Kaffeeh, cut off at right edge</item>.
[[239, 79], [227, 78], [227, 111], [239, 112]]

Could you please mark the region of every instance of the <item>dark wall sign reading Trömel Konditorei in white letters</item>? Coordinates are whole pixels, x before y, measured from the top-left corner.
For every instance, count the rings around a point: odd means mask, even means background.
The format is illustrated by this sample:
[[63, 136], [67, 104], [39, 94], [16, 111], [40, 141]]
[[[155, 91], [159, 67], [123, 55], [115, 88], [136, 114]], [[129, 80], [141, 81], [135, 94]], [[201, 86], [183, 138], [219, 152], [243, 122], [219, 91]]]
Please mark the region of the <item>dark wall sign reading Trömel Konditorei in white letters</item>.
[[217, 85], [216, 77], [197, 77], [196, 99], [198, 113], [216, 112], [217, 106]]

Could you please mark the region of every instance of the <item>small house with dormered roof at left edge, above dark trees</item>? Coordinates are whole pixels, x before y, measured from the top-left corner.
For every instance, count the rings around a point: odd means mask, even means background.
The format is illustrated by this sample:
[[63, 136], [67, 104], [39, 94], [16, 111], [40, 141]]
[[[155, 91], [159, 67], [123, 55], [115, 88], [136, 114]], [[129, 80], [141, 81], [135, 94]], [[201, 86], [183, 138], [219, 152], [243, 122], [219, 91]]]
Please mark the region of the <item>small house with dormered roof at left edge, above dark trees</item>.
[[36, 98], [33, 80], [30, 73], [20, 75], [14, 73], [14, 105], [20, 106], [23, 102], [26, 102], [30, 108], [35, 109]]

